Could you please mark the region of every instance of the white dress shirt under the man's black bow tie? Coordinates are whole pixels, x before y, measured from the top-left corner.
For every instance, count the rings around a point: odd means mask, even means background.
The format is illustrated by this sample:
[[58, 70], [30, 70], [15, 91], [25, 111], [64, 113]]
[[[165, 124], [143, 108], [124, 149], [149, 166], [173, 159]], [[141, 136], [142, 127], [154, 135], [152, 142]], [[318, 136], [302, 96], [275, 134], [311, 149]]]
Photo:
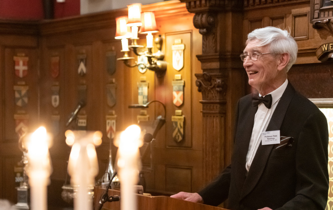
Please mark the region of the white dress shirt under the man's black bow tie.
[[[272, 95], [272, 106], [270, 109], [267, 109], [263, 103], [260, 103], [258, 105], [258, 110], [254, 116], [254, 125], [253, 125], [249, 150], [246, 155], [245, 167], [246, 167], [247, 171], [249, 171], [251, 163], [255, 156], [255, 153], [257, 152], [257, 149], [260, 145], [261, 133], [263, 131], [266, 131], [269, 121], [272, 118], [273, 112], [274, 112], [283, 92], [285, 91], [287, 84], [288, 84], [288, 80], [286, 79], [286, 81], [280, 87], [278, 87], [276, 90], [268, 93], [268, 94]], [[259, 96], [261, 96], [261, 95], [259, 94]]]

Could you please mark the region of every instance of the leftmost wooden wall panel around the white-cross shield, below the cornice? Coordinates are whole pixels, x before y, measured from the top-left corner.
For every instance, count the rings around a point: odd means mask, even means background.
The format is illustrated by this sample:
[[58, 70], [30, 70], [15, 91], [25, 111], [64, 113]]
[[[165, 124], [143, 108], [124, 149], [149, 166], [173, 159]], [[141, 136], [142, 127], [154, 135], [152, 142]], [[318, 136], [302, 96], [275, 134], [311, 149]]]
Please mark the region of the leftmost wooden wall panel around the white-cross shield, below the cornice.
[[[28, 39], [29, 40], [29, 39]], [[15, 202], [17, 193], [15, 190], [15, 173], [14, 166], [21, 160], [22, 152], [19, 150], [18, 140], [19, 136], [15, 132], [16, 124], [14, 117], [29, 116], [28, 130], [32, 132], [37, 127], [39, 120], [39, 104], [38, 104], [38, 55], [35, 46], [14, 46], [14, 43], [8, 42], [7, 46], [3, 46], [1, 57], [3, 61], [2, 68], [4, 69], [1, 76], [3, 88], [3, 103], [2, 103], [2, 122], [1, 127], [3, 132], [1, 134], [1, 156], [2, 156], [2, 189], [3, 198], [11, 202]], [[13, 44], [13, 45], [12, 45]], [[28, 60], [28, 73], [25, 77], [19, 78], [15, 75], [14, 71], [14, 56], [27, 56]], [[28, 87], [27, 105], [22, 107], [16, 105], [14, 86]], [[7, 151], [7, 152], [6, 152]], [[10, 153], [8, 153], [10, 151]]]

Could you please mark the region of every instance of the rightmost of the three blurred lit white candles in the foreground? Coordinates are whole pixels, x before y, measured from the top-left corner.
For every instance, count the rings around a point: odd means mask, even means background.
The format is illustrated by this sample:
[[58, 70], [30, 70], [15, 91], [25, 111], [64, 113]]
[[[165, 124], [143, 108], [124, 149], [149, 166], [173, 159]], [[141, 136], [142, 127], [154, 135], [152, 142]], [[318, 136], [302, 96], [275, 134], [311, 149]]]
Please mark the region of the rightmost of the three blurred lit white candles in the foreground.
[[137, 200], [134, 185], [139, 180], [140, 127], [129, 126], [120, 137], [118, 174], [120, 178], [121, 210], [136, 210]]

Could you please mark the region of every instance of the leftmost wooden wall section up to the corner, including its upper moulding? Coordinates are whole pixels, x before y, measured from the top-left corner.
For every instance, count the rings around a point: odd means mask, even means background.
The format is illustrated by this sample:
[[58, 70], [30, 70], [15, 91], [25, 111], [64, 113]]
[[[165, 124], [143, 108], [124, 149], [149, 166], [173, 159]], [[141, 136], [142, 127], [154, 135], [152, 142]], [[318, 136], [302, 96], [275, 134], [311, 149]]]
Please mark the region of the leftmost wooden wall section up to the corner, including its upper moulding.
[[[26, 30], [24, 30], [26, 29]], [[37, 96], [38, 80], [37, 74], [37, 27], [36, 23], [21, 24], [17, 22], [1, 21], [0, 23], [0, 85], [1, 85], [1, 118], [0, 118], [0, 197], [16, 202], [17, 193], [15, 189], [14, 166], [21, 160], [22, 151], [18, 147], [18, 135], [15, 133], [15, 120], [17, 107], [15, 105], [14, 85], [17, 81], [14, 78], [14, 53], [24, 52], [29, 56], [29, 74], [22, 79], [25, 85], [31, 87], [29, 105], [25, 112], [32, 116], [32, 123], [38, 118]], [[7, 84], [8, 82], [8, 84]]]

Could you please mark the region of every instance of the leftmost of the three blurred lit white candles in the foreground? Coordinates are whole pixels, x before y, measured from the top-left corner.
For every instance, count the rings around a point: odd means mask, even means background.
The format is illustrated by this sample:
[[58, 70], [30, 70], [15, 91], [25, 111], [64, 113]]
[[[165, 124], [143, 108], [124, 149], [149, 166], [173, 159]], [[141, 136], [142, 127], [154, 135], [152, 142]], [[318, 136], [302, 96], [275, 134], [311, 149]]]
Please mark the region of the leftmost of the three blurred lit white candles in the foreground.
[[28, 176], [32, 210], [47, 210], [47, 185], [52, 172], [49, 157], [51, 139], [44, 127], [27, 136]]

